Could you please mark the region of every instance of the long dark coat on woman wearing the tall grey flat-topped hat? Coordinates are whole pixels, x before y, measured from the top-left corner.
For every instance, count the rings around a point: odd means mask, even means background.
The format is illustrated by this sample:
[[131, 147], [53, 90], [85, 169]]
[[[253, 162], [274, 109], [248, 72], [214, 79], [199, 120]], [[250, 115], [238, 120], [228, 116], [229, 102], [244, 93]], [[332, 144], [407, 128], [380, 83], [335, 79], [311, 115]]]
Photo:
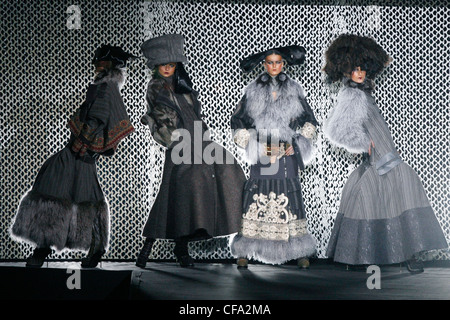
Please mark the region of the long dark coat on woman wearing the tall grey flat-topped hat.
[[[206, 237], [237, 232], [245, 175], [232, 155], [211, 141], [197, 147], [203, 152], [205, 148], [214, 146], [223, 152], [223, 158], [233, 161], [218, 158], [210, 164], [197, 157], [194, 162], [194, 127], [200, 128], [200, 133], [207, 129], [201, 120], [197, 93], [175, 93], [171, 78], [158, 77], [148, 84], [146, 99], [148, 111], [141, 121], [149, 126], [153, 138], [167, 150], [159, 193], [144, 226], [143, 236], [175, 239], [192, 236], [199, 230], [206, 230]], [[172, 159], [172, 152], [178, 153], [183, 142], [182, 139], [171, 140], [176, 129], [187, 130], [192, 137], [190, 154], [184, 154], [185, 159], [191, 161], [175, 164]], [[196, 155], [199, 156], [198, 152]]]

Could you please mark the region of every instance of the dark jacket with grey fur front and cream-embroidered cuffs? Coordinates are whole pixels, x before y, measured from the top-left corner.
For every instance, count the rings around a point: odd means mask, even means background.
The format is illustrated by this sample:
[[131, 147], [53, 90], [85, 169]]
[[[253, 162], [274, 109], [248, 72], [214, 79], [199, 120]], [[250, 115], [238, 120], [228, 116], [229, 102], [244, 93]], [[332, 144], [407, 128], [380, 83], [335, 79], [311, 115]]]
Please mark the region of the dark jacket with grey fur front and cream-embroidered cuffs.
[[267, 141], [262, 139], [266, 135], [292, 144], [301, 169], [313, 158], [311, 138], [317, 125], [303, 88], [285, 73], [273, 78], [264, 72], [251, 82], [231, 118], [234, 140], [245, 148], [250, 164], [260, 159], [260, 141]]

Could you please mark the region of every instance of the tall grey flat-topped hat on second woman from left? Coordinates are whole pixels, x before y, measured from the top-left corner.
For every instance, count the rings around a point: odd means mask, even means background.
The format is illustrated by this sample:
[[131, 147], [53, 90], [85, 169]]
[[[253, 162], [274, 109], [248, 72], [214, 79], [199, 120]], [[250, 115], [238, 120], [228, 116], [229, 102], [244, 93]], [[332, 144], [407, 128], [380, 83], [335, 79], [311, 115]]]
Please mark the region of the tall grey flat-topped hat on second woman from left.
[[169, 62], [187, 62], [183, 49], [184, 37], [181, 34], [166, 34], [148, 39], [141, 45], [150, 69]]

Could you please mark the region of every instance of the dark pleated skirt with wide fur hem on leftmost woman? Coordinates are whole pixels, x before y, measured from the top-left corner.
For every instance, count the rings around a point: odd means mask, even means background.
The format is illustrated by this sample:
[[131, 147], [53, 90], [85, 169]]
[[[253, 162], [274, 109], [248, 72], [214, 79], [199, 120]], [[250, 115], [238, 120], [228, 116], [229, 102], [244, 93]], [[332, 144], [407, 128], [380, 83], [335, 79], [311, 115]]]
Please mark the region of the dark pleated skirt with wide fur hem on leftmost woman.
[[20, 201], [10, 234], [37, 247], [88, 250], [96, 233], [106, 249], [109, 209], [95, 161], [69, 146], [48, 158]]

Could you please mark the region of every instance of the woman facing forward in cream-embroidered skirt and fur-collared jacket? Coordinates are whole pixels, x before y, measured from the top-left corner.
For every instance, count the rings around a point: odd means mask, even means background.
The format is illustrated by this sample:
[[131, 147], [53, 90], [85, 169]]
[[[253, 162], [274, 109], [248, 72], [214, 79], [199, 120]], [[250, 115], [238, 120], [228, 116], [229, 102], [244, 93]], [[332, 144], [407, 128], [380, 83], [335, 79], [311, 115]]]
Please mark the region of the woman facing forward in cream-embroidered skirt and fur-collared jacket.
[[231, 241], [238, 267], [248, 260], [282, 264], [298, 260], [309, 267], [316, 251], [308, 233], [299, 169], [313, 158], [311, 140], [318, 125], [302, 86], [283, 68], [300, 65], [305, 49], [269, 49], [241, 61], [244, 72], [263, 64], [264, 72], [245, 89], [231, 119], [234, 139], [251, 165], [244, 186], [242, 221]]

